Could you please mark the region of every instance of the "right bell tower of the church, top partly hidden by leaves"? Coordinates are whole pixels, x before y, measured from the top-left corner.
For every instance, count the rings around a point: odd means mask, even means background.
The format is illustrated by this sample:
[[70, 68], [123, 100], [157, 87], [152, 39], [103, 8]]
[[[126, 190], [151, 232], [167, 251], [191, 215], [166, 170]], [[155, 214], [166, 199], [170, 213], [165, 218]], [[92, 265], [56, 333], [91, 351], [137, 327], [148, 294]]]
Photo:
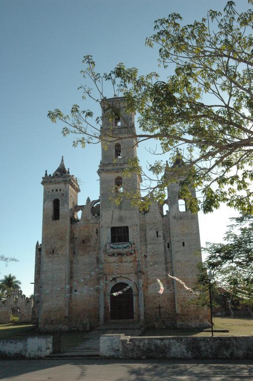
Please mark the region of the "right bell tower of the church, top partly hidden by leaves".
[[[170, 176], [174, 171], [184, 173], [184, 162], [178, 157], [172, 168], [166, 169], [166, 175]], [[174, 177], [174, 175], [173, 175]], [[198, 264], [202, 262], [201, 241], [199, 231], [198, 214], [192, 213], [187, 208], [187, 203], [179, 197], [180, 181], [168, 186], [169, 204], [169, 231], [170, 231], [170, 253], [172, 259], [173, 276], [182, 280], [187, 287], [193, 288], [197, 285]], [[196, 197], [195, 188], [190, 189]], [[189, 301], [194, 297], [180, 282], [174, 279], [174, 298], [176, 309], [177, 326], [201, 326], [206, 322], [206, 309], [197, 308]]]

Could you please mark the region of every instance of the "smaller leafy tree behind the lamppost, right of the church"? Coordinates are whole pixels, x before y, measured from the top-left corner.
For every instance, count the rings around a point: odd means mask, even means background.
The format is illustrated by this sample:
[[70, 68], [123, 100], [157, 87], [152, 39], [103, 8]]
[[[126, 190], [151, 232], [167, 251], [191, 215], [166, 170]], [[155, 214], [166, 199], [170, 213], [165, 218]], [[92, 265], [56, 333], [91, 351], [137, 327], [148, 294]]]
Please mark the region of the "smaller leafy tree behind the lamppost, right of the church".
[[[253, 215], [232, 218], [225, 243], [206, 243], [206, 271], [212, 270], [216, 287], [224, 290], [230, 315], [232, 301], [253, 304]], [[206, 273], [206, 272], [205, 272]]]

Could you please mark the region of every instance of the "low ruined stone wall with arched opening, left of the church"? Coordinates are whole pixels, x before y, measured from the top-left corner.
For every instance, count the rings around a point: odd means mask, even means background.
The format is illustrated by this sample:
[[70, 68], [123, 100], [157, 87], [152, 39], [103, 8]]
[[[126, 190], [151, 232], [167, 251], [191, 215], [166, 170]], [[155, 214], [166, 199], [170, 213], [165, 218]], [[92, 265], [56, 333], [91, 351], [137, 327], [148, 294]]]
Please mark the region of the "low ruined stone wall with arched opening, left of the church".
[[[32, 298], [27, 298], [21, 290], [15, 290], [5, 300], [0, 301], [0, 324], [10, 322], [11, 309], [18, 309], [19, 322], [32, 321]], [[16, 315], [16, 314], [15, 314]]]

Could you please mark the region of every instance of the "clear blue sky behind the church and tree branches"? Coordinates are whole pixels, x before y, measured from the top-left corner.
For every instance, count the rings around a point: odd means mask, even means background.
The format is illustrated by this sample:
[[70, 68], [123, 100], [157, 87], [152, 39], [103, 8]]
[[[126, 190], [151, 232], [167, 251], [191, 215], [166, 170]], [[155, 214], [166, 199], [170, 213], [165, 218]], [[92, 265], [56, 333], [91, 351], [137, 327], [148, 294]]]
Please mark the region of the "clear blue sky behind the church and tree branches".
[[[247, 1], [237, 2], [239, 10], [248, 8]], [[101, 72], [119, 62], [144, 74], [157, 70], [157, 49], [145, 47], [156, 18], [179, 12], [190, 23], [210, 7], [224, 5], [221, 0], [0, 1], [0, 254], [19, 259], [7, 267], [0, 262], [0, 278], [15, 274], [24, 293], [33, 292], [35, 244], [41, 242], [41, 178], [45, 169], [52, 173], [58, 167], [61, 155], [80, 179], [79, 204], [99, 195], [100, 147], [72, 148], [71, 136], [60, 133], [63, 126], [47, 118], [48, 110], [69, 113], [72, 104], [82, 103], [77, 91], [83, 82], [82, 57], [93, 55]], [[145, 146], [138, 153], [145, 166]], [[220, 241], [232, 215], [225, 207], [200, 214], [202, 245]]]

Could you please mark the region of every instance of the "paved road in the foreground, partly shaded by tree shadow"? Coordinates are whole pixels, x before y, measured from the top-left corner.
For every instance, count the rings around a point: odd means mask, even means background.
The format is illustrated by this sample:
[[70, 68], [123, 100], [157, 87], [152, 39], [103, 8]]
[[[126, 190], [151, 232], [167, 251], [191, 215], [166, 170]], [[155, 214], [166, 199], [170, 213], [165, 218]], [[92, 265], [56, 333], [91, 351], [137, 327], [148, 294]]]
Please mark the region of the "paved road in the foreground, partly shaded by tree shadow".
[[0, 380], [249, 381], [253, 362], [225, 360], [0, 360]]

